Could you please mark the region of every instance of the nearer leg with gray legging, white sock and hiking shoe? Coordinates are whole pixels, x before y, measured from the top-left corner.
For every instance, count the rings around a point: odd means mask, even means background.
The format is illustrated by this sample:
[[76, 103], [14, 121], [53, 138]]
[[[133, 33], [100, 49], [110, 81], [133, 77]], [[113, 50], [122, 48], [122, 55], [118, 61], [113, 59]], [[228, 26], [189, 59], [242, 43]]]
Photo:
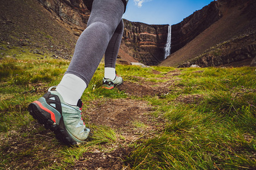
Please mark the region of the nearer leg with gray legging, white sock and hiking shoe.
[[30, 114], [54, 131], [56, 138], [64, 143], [81, 143], [89, 135], [90, 130], [81, 118], [82, 102], [79, 99], [96, 71], [123, 11], [120, 0], [94, 0], [88, 28], [79, 37], [72, 61], [56, 91], [49, 88], [43, 97], [28, 106]]

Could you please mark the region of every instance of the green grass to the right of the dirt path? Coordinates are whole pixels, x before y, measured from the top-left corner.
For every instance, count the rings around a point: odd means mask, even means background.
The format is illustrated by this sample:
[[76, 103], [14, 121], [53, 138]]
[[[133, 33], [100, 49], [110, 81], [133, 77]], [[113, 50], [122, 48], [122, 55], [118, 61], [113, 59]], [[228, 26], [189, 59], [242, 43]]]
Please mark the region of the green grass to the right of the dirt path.
[[150, 99], [154, 114], [167, 120], [165, 131], [136, 147], [127, 160], [132, 169], [255, 168], [255, 69], [181, 70], [179, 94], [204, 99], [185, 105], [168, 95], [162, 103]]

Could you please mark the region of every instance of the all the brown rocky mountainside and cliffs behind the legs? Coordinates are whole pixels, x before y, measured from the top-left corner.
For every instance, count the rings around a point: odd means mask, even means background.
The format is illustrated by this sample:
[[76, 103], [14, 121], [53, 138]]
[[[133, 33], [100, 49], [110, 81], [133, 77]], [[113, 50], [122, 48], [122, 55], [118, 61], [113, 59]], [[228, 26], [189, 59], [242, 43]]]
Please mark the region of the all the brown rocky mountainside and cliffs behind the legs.
[[[76, 40], [90, 15], [82, 0], [0, 2], [1, 44], [26, 46], [40, 54], [48, 51], [53, 57], [72, 57]], [[237, 62], [249, 65], [255, 57], [255, 11], [254, 0], [213, 1], [172, 25], [172, 54], [164, 61], [168, 25], [124, 20], [118, 63], [161, 62], [163, 66], [182, 67], [232, 66]]]

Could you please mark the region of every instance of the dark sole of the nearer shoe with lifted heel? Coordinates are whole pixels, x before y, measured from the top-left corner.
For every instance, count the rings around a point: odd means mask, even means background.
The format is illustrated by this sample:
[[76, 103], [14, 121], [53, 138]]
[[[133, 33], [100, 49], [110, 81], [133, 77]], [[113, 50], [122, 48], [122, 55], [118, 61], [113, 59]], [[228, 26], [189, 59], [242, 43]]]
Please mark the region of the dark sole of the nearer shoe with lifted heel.
[[60, 142], [65, 143], [66, 145], [79, 145], [79, 142], [76, 142], [71, 135], [69, 135], [67, 129], [65, 129], [64, 123], [63, 123], [63, 117], [60, 118], [60, 124], [63, 127], [60, 127], [60, 125], [57, 125], [52, 119], [51, 119], [51, 113], [46, 111], [46, 108], [41, 108], [37, 103], [31, 103], [28, 105], [28, 112], [30, 112], [31, 116], [38, 120], [39, 124], [44, 125], [44, 128], [50, 129], [55, 133], [56, 139], [58, 139]]

